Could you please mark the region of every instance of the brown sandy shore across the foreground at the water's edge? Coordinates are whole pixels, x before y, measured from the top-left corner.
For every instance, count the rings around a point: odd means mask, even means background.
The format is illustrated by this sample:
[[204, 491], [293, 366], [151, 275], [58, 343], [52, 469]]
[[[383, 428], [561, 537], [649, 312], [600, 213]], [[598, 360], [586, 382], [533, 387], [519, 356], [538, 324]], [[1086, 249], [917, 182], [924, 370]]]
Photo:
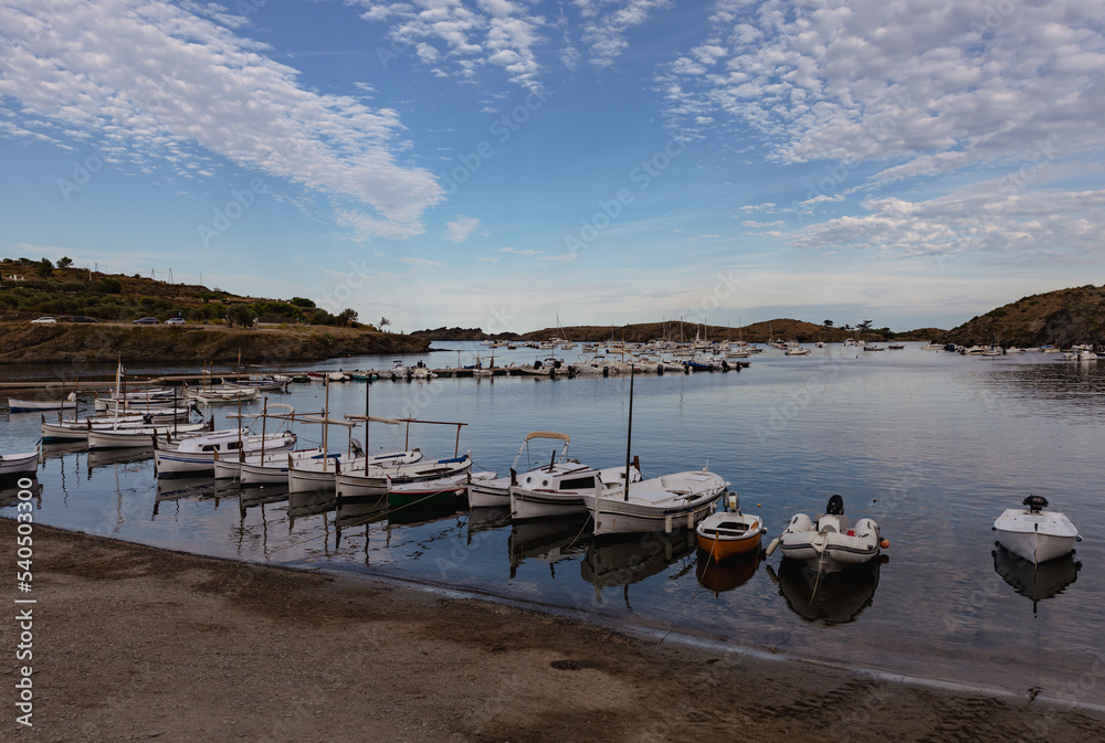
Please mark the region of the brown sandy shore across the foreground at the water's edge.
[[[34, 527], [20, 741], [1092, 741], [1105, 715]], [[12, 521], [0, 543], [15, 551]], [[9, 573], [10, 575], [11, 573]], [[10, 579], [9, 606], [17, 597]], [[9, 614], [11, 614], [9, 608]]]

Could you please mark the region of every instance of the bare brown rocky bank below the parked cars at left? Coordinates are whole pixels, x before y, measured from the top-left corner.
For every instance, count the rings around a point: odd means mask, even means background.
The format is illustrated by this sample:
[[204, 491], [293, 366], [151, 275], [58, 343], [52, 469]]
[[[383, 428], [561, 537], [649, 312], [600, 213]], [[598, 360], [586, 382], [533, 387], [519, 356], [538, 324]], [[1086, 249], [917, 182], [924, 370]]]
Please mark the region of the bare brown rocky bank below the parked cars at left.
[[236, 361], [278, 365], [371, 353], [419, 353], [429, 341], [355, 328], [290, 326], [31, 325], [4, 323], [0, 363]]

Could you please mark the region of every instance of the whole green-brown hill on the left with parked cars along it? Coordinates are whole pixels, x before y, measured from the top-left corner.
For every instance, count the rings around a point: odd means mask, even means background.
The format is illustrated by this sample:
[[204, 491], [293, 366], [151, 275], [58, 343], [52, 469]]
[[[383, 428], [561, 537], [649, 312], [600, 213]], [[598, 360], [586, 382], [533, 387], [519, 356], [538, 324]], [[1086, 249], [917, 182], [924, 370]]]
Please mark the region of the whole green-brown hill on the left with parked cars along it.
[[[67, 263], [64, 259], [59, 265]], [[56, 323], [34, 325], [49, 315]], [[72, 317], [98, 322], [66, 322]], [[185, 326], [131, 320], [170, 317]], [[0, 261], [0, 363], [234, 361], [280, 364], [369, 353], [419, 353], [423, 338], [381, 332], [305, 297], [267, 299], [29, 258]]]

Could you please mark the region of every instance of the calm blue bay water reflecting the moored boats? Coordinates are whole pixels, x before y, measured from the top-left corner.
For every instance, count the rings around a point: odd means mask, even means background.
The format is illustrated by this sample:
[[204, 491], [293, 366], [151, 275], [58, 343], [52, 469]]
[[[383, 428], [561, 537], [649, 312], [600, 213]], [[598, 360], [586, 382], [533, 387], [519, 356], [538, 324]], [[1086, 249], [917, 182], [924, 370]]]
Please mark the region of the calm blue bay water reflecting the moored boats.
[[[438, 367], [487, 353], [475, 343], [439, 346], [453, 350], [409, 360]], [[780, 569], [778, 553], [717, 566], [685, 535], [596, 548], [579, 521], [512, 528], [494, 512], [336, 513], [333, 501], [290, 501], [278, 488], [159, 482], [141, 455], [50, 454], [39, 473], [36, 518], [203, 554], [461, 586], [734, 646], [1105, 703], [1105, 361], [1039, 353], [986, 360], [917, 346], [881, 353], [836, 346], [804, 358], [765, 352], [740, 373], [635, 381], [632, 450], [646, 477], [708, 463], [732, 481], [744, 510], [762, 514], [766, 539], [794, 512], [821, 512], [832, 493], [844, 497], [851, 518], [880, 523], [888, 559], [854, 575], [823, 576], [815, 591], [814, 576]], [[497, 360], [528, 362], [535, 353]], [[315, 368], [390, 365], [366, 358]], [[627, 378], [370, 386], [376, 415], [466, 422], [461, 450], [499, 474], [534, 429], [570, 434], [572, 454], [586, 464], [624, 463], [628, 393]], [[365, 394], [364, 383], [333, 385], [332, 412], [364, 412]], [[317, 412], [324, 390], [293, 385], [270, 399]], [[320, 438], [317, 426], [296, 432], [302, 444]], [[402, 429], [373, 425], [369, 433], [373, 449], [404, 444]], [[356, 435], [364, 441], [364, 429]], [[36, 415], [0, 414], [0, 450], [28, 450], [38, 436]], [[336, 431], [332, 445], [345, 438]], [[414, 426], [410, 443], [452, 455], [455, 428]], [[1046, 497], [1078, 527], [1085, 541], [1075, 558], [1033, 572], [994, 554], [994, 518], [1029, 493]]]

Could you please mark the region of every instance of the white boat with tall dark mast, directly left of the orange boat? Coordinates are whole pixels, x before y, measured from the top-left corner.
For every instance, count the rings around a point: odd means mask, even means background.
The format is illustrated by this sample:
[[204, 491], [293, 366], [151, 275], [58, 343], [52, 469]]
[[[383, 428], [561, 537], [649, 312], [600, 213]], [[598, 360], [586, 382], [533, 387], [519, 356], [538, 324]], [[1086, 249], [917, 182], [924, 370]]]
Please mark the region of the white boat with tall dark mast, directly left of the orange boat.
[[610, 467], [597, 473], [593, 491], [583, 496], [596, 537], [694, 529], [729, 485], [705, 467], [648, 480], [635, 467], [629, 471], [628, 491], [625, 468]]

